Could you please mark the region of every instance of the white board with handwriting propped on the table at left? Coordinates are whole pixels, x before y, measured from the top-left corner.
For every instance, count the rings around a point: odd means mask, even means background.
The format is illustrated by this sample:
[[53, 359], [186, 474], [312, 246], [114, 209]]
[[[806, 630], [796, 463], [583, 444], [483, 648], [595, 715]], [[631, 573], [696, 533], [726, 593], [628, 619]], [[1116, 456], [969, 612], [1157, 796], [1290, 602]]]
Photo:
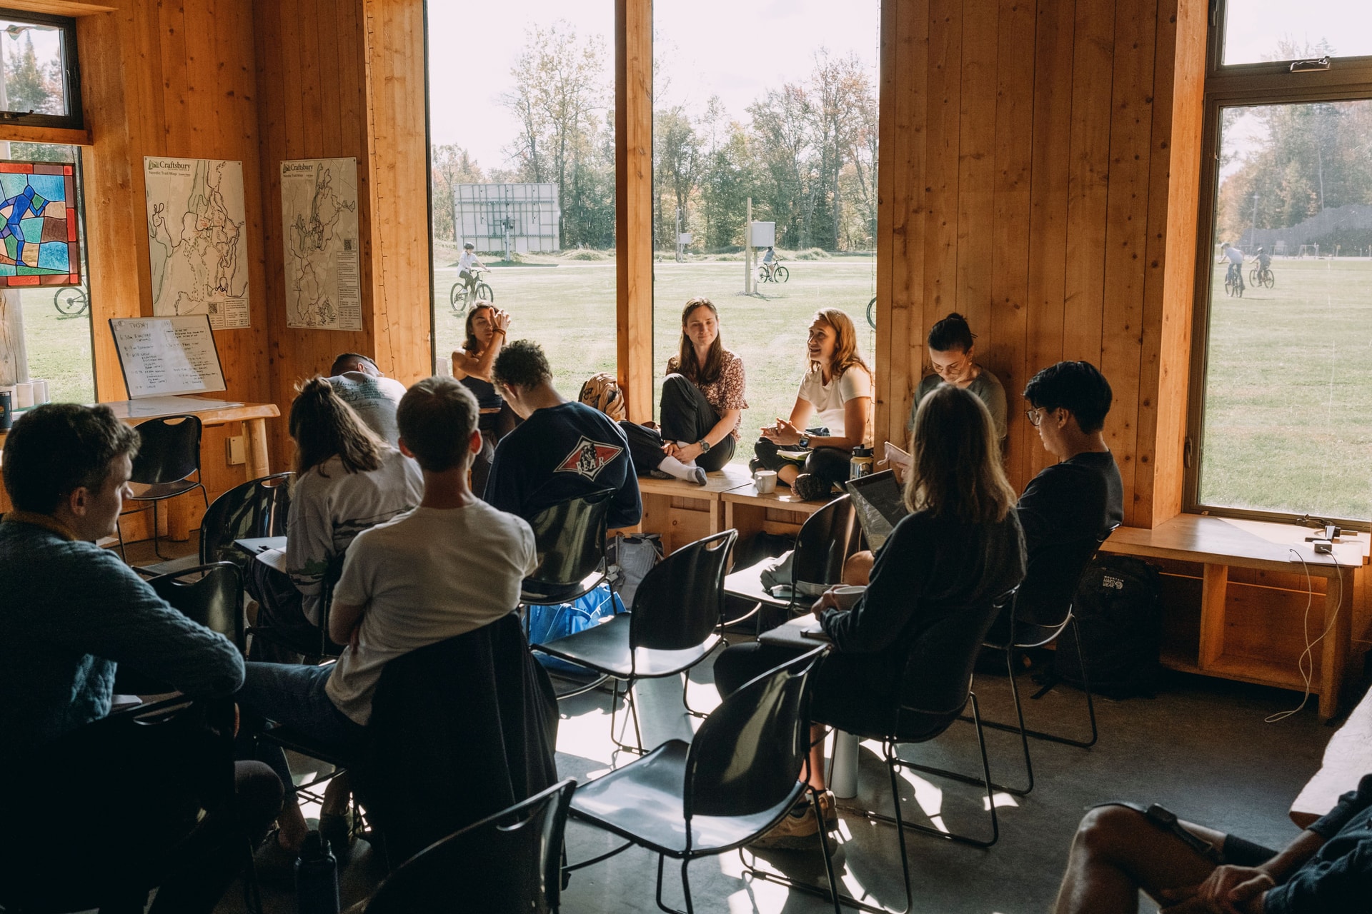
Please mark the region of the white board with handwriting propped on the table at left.
[[129, 399], [224, 391], [210, 315], [110, 318]]

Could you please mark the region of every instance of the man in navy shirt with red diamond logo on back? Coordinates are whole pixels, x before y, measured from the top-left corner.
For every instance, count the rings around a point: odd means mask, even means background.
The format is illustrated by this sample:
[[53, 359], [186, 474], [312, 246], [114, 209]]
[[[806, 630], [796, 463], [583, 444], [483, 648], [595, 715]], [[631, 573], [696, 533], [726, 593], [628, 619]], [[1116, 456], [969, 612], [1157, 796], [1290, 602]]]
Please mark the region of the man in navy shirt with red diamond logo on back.
[[495, 447], [486, 502], [525, 521], [586, 492], [615, 489], [609, 526], [642, 517], [638, 477], [624, 432], [608, 415], [568, 400], [553, 386], [542, 347], [516, 340], [491, 367], [495, 386], [523, 422]]

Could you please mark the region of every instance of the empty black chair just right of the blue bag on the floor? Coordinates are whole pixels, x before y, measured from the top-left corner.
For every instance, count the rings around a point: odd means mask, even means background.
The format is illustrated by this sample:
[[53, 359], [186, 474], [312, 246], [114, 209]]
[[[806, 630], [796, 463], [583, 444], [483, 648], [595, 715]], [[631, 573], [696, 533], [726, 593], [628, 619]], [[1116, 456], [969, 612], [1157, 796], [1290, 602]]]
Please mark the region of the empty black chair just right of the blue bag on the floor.
[[[643, 577], [634, 593], [632, 613], [622, 613], [601, 625], [534, 645], [615, 680], [609, 728], [611, 739], [620, 748], [643, 751], [634, 682], [687, 673], [682, 687], [685, 702], [690, 667], [723, 643], [718, 629], [724, 604], [724, 571], [737, 539], [738, 530], [724, 530], [683, 545]], [[624, 744], [615, 733], [620, 682], [634, 718], [637, 747]]]

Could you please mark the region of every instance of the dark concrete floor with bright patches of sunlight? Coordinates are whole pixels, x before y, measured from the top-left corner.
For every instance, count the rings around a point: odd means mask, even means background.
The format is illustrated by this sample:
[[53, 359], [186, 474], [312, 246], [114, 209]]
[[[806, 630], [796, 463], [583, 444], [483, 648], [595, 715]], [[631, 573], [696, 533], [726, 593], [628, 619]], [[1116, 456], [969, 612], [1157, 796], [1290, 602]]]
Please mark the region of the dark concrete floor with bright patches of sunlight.
[[[163, 545], [169, 552], [170, 544]], [[193, 548], [193, 544], [191, 544]], [[150, 560], [145, 544], [129, 549], [132, 562]], [[170, 552], [187, 544], [170, 545]], [[1021, 688], [1029, 685], [1021, 678]], [[1026, 689], [1028, 691], [1028, 689]], [[1006, 677], [978, 677], [977, 695], [988, 719], [1013, 718]], [[563, 702], [557, 766], [564, 777], [595, 777], [619, 761], [608, 739], [608, 693], [590, 693]], [[672, 736], [689, 739], [691, 718], [681, 708], [679, 680], [646, 684], [639, 689], [645, 741], [657, 744]], [[718, 702], [711, 685], [711, 665], [691, 676], [691, 704], [709, 708]], [[1316, 771], [1331, 729], [1321, 725], [1314, 700], [1279, 724], [1268, 715], [1294, 707], [1299, 693], [1172, 674], [1155, 699], [1096, 700], [1100, 741], [1091, 750], [1032, 741], [1037, 784], [1026, 798], [996, 796], [1000, 840], [977, 850], [923, 835], [908, 835], [914, 910], [940, 914], [1019, 914], [1045, 911], [1056, 892], [1067, 848], [1083, 810], [1102, 800], [1128, 799], [1162, 803], [1184, 818], [1281, 847], [1297, 835], [1287, 808], [1305, 781]], [[1026, 703], [1030, 726], [1081, 733], [1085, 728], [1084, 696], [1058, 687], [1037, 702]], [[988, 730], [992, 777], [1021, 782], [1024, 762], [1018, 737]], [[938, 740], [910, 747], [906, 756], [933, 765], [975, 771], [980, 765], [971, 725], [958, 724]], [[309, 763], [303, 759], [298, 774]], [[911, 821], [936, 822], [958, 832], [986, 825], [985, 796], [978, 788], [934, 777], [904, 773], [901, 803]], [[899, 910], [904, 904], [900, 856], [895, 829], [873, 824], [856, 807], [889, 811], [890, 796], [879, 747], [864, 744], [860, 754], [859, 795], [841, 800], [841, 845], [836, 867], [848, 892], [870, 903]], [[568, 826], [571, 861], [582, 861], [613, 847], [609, 836], [579, 824]], [[759, 856], [764, 869], [823, 882], [818, 850], [772, 851]], [[578, 872], [563, 895], [565, 914], [628, 914], [654, 911], [657, 861], [632, 848], [604, 863]], [[679, 869], [667, 867], [668, 904], [682, 903]], [[342, 873], [344, 906], [366, 898], [384, 876], [365, 843]], [[800, 914], [833, 910], [819, 899], [788, 891], [772, 882], [744, 876], [737, 852], [702, 859], [690, 869], [698, 911], [742, 914]], [[269, 914], [295, 911], [288, 888], [263, 887]], [[217, 911], [243, 911], [236, 887]], [[1150, 910], [1146, 906], [1144, 910]]]

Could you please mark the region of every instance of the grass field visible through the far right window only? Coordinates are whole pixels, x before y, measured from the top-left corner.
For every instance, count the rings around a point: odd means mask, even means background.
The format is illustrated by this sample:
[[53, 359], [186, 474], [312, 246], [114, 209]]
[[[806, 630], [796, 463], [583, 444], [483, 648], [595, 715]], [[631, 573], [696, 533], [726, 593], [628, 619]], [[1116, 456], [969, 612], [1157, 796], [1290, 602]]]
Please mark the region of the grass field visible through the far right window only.
[[1239, 299], [1216, 266], [1200, 502], [1372, 517], [1372, 262], [1272, 271]]

